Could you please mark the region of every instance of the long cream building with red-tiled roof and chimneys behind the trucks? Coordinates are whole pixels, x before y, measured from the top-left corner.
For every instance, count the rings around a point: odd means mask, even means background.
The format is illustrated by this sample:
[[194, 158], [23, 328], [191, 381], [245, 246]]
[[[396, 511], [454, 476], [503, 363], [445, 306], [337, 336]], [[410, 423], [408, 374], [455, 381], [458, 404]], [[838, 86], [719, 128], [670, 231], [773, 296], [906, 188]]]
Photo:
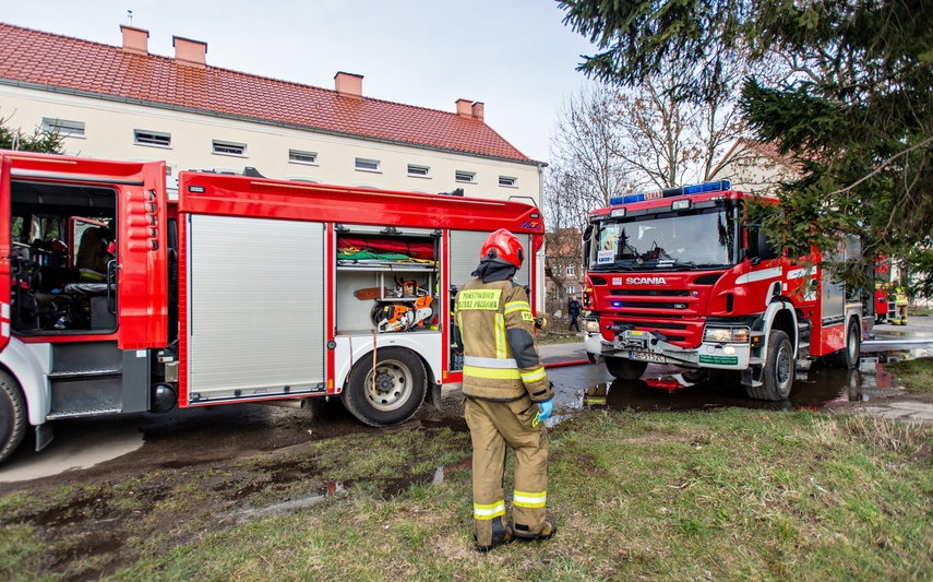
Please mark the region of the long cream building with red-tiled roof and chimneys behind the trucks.
[[115, 47], [0, 24], [0, 117], [59, 131], [65, 153], [164, 159], [168, 171], [247, 166], [276, 179], [540, 201], [542, 164], [483, 121], [362, 94], [338, 72], [333, 90], [211, 67], [207, 44], [174, 37], [174, 58], [148, 32], [121, 26]]

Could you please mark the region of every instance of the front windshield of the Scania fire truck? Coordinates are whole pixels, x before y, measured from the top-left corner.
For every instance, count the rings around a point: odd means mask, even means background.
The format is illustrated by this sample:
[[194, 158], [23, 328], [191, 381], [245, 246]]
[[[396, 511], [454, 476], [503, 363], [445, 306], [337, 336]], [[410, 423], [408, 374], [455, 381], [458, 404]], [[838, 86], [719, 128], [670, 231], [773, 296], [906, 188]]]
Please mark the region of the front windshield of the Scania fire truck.
[[596, 226], [590, 271], [728, 268], [735, 259], [729, 209], [633, 216]]

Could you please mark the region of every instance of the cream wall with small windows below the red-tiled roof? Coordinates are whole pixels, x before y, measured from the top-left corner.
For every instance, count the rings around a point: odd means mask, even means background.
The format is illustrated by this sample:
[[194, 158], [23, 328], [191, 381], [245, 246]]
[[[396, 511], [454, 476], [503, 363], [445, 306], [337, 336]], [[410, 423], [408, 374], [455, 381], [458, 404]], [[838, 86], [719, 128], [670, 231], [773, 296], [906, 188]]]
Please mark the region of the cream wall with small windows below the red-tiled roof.
[[[9, 118], [8, 127], [22, 128], [25, 133], [39, 127], [44, 117], [82, 121], [85, 136], [65, 138], [67, 154], [105, 159], [165, 159], [172, 175], [183, 169], [242, 173], [246, 166], [252, 166], [263, 176], [275, 179], [410, 192], [450, 192], [463, 188], [466, 195], [530, 197], [540, 205], [540, 181], [534, 164], [4, 85], [0, 85], [0, 117]], [[133, 130], [169, 133], [171, 146], [134, 144]], [[246, 144], [247, 155], [214, 154], [213, 140]], [[318, 164], [289, 163], [289, 150], [316, 153]], [[380, 171], [355, 169], [357, 157], [379, 161]], [[409, 177], [408, 164], [429, 166], [430, 178]], [[457, 170], [476, 173], [476, 183], [455, 181]], [[516, 187], [499, 186], [500, 176], [516, 178]]]

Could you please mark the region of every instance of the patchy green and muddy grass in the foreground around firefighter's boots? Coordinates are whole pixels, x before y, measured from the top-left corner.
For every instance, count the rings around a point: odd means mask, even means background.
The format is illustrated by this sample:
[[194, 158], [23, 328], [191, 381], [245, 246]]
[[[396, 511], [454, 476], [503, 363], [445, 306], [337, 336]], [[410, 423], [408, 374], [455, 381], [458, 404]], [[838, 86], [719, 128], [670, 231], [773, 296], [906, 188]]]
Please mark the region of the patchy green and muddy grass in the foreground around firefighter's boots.
[[[591, 409], [551, 430], [555, 538], [489, 555], [471, 549], [467, 433], [316, 441], [292, 456], [0, 498], [0, 575], [921, 580], [933, 571], [931, 437], [805, 411]], [[244, 513], [328, 487], [345, 492]], [[82, 554], [101, 530], [122, 544]]]

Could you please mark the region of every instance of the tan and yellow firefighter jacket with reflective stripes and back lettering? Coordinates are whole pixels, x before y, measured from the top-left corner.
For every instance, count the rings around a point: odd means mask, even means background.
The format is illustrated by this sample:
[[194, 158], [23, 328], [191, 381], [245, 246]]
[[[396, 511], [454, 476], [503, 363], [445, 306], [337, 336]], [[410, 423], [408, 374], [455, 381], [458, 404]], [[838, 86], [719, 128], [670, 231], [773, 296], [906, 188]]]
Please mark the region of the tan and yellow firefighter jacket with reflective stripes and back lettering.
[[535, 345], [531, 306], [511, 280], [475, 278], [457, 293], [457, 325], [464, 344], [464, 395], [509, 402], [527, 394], [553, 397]]

